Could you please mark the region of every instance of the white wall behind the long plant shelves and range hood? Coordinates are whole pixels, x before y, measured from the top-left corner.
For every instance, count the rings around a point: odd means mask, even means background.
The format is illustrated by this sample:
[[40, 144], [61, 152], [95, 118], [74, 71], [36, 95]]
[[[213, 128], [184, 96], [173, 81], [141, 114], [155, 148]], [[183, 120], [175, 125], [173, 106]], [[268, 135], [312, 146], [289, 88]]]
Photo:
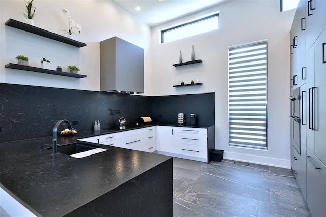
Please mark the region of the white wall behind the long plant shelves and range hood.
[[[87, 44], [77, 48], [58, 41], [30, 34], [5, 26], [8, 19], [23, 21], [24, 1], [0, 0], [0, 82], [48, 86], [83, 90], [100, 90], [100, 52], [99, 42], [118, 36], [130, 43], [144, 48], [145, 82], [150, 83], [151, 73], [151, 28], [108, 0], [37, 0], [35, 26], [62, 34], [68, 28], [68, 20], [62, 9], [70, 11], [71, 18], [82, 26], [82, 34], [75, 40]], [[71, 78], [14, 69], [6, 69], [8, 63], [17, 63], [15, 57], [29, 57], [29, 65], [41, 67], [40, 60], [45, 57], [51, 61], [51, 69], [58, 65], [66, 71], [68, 65], [80, 68], [79, 74], [87, 78]], [[149, 92], [145, 85], [145, 93]], [[147, 94], [147, 95], [149, 95]]]

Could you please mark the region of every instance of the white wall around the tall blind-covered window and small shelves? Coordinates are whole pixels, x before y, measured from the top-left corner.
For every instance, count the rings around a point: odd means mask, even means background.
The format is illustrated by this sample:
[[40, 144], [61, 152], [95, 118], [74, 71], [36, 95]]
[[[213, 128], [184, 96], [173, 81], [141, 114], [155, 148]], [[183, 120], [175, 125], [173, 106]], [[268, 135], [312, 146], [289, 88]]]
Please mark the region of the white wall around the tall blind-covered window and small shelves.
[[[165, 44], [159, 43], [160, 29], [220, 11], [220, 29]], [[224, 158], [290, 168], [290, 28], [295, 11], [280, 12], [279, 0], [229, 1], [152, 29], [153, 95], [215, 92], [216, 149]], [[228, 145], [228, 46], [268, 40], [268, 150], [230, 147]], [[195, 59], [202, 64], [173, 67]], [[202, 86], [172, 87], [179, 81], [200, 79]]]

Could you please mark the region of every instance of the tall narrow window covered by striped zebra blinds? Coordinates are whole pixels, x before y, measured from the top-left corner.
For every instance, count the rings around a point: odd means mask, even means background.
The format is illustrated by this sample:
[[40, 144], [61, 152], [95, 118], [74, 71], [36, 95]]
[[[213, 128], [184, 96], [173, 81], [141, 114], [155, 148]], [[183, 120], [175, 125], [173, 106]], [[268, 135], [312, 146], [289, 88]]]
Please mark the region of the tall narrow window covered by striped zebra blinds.
[[228, 51], [229, 145], [267, 149], [267, 41]]

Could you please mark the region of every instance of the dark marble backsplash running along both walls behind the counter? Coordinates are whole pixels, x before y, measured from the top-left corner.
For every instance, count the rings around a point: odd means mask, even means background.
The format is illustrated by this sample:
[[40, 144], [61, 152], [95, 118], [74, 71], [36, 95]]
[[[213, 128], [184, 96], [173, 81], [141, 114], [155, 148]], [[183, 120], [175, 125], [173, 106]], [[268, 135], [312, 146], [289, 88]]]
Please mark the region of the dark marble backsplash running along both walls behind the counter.
[[[110, 114], [110, 109], [121, 112]], [[214, 94], [148, 97], [0, 83], [0, 142], [51, 136], [61, 119], [78, 121], [72, 127], [87, 131], [95, 120], [101, 128], [117, 127], [120, 117], [126, 125], [139, 116], [176, 123], [180, 112], [199, 114], [199, 124], [214, 124]]]

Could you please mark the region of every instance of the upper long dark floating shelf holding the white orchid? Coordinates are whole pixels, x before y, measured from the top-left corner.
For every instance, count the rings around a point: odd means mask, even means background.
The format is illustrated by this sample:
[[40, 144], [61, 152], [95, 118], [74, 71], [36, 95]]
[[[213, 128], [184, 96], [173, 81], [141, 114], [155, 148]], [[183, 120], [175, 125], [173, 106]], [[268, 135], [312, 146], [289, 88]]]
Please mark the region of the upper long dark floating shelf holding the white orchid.
[[33, 34], [36, 34], [36, 35], [39, 35], [39, 36], [43, 36], [43, 37], [46, 37], [46, 38], [49, 38], [49, 39], [53, 39], [53, 40], [56, 40], [56, 41], [59, 41], [59, 42], [70, 44], [70, 45], [73, 45], [73, 46], [76, 46], [76, 47], [84, 47], [84, 46], [86, 46], [86, 44], [83, 43], [83, 42], [78, 42], [76, 40], [69, 39], [69, 38], [67, 38], [65, 36], [61, 36], [61, 35], [58, 35], [56, 33], [51, 33], [51, 32], [49, 32], [47, 30], [42, 29], [42, 28], [39, 28], [39, 27], [36, 27], [36, 26], [33, 26], [33, 25], [29, 25], [29, 24], [26, 24], [26, 23], [23, 23], [23, 22], [19, 22], [17, 20], [9, 19], [6, 22], [6, 25], [14, 27], [14, 28], [21, 29], [21, 30], [24, 30], [26, 32], [33, 33]]

